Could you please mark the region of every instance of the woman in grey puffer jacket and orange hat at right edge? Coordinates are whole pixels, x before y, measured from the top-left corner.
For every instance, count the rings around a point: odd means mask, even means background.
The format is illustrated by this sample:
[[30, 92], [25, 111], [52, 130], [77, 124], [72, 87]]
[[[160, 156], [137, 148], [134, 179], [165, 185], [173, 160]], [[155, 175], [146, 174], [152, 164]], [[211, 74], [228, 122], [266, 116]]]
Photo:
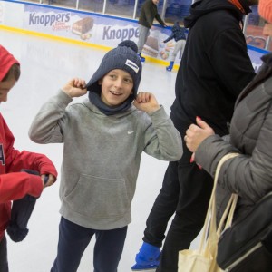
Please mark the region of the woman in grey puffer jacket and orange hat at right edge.
[[[272, 1], [259, 0], [258, 11], [267, 21], [263, 34], [272, 36]], [[261, 59], [263, 65], [257, 76], [238, 96], [229, 141], [222, 139], [200, 118], [186, 132], [185, 141], [189, 151], [193, 152], [193, 160], [212, 176], [224, 155], [239, 153], [238, 157], [227, 160], [219, 172], [218, 221], [231, 193], [238, 194], [233, 219], [236, 222], [272, 191], [272, 53]], [[256, 261], [250, 258], [250, 271], [272, 271], [269, 236], [262, 244], [268, 254], [263, 251], [263, 257], [258, 255]], [[262, 259], [261, 265], [259, 259]]]

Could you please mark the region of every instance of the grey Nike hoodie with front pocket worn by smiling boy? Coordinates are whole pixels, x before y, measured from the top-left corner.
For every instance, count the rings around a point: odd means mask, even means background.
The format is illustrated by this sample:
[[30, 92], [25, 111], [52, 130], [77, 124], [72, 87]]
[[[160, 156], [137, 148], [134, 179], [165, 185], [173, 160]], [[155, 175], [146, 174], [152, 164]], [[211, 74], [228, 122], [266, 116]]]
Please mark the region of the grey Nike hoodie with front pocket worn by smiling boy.
[[107, 116], [89, 99], [70, 102], [58, 92], [44, 103], [29, 131], [35, 142], [64, 143], [60, 212], [85, 228], [124, 227], [131, 222], [141, 153], [179, 160], [180, 133], [163, 107], [148, 114], [131, 105]]

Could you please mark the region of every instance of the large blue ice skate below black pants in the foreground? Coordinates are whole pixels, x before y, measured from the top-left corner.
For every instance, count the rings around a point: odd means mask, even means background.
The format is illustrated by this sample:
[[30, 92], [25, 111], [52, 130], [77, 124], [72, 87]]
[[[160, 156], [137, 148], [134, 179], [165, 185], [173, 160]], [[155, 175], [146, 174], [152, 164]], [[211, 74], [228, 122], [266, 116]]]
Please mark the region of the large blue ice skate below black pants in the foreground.
[[136, 264], [131, 267], [132, 271], [156, 269], [160, 263], [160, 248], [143, 242], [135, 260]]

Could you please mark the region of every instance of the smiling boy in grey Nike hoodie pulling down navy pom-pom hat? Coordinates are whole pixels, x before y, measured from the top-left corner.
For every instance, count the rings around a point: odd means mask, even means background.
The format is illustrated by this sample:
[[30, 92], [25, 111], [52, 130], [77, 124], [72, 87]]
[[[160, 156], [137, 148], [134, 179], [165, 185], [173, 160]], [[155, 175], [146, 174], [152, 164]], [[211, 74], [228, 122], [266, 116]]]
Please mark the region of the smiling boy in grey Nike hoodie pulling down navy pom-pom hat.
[[[137, 45], [106, 53], [86, 85], [73, 79], [45, 102], [29, 130], [37, 143], [63, 142], [62, 219], [52, 272], [75, 272], [93, 235], [93, 266], [116, 272], [131, 223], [141, 154], [178, 160], [181, 137], [155, 96], [139, 92]], [[83, 102], [73, 101], [86, 92]]]

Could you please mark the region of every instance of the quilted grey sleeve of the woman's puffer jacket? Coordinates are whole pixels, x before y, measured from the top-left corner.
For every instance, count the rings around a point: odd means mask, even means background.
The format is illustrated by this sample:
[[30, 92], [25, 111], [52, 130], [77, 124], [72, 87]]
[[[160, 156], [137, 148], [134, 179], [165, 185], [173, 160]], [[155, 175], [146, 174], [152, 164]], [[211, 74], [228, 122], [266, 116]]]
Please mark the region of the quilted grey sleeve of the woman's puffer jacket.
[[[252, 154], [240, 154], [227, 160], [219, 172], [219, 185], [228, 192], [256, 202], [272, 190], [272, 121], [267, 119], [258, 135]], [[214, 176], [219, 160], [229, 152], [239, 152], [218, 135], [203, 141], [195, 160]]]

